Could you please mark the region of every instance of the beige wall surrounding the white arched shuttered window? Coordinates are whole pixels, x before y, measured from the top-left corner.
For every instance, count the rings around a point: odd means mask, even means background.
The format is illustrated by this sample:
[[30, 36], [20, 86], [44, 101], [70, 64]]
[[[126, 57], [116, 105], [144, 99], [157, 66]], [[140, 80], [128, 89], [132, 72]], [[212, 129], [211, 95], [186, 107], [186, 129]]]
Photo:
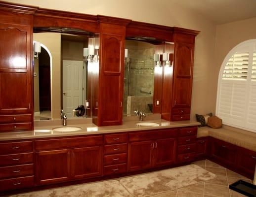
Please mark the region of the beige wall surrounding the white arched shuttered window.
[[219, 69], [228, 52], [239, 43], [256, 38], [256, 17], [218, 25], [215, 38], [215, 58], [213, 72], [214, 108], [216, 106], [216, 93]]

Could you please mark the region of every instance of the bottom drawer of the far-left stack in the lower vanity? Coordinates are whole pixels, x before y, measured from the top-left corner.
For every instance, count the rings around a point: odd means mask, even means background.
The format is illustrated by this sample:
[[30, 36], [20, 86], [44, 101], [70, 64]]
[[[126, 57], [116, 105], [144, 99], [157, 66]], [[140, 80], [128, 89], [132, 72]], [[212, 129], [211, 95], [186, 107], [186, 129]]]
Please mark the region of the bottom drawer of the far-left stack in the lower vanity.
[[34, 176], [0, 180], [0, 186], [0, 191], [33, 187]]

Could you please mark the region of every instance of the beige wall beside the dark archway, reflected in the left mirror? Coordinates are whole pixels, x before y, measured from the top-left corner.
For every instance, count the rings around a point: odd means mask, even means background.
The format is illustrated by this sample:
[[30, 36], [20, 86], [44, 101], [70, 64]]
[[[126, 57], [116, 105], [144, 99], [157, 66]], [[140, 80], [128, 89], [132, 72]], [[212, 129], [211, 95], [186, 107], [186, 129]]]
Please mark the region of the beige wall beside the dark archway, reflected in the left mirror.
[[33, 40], [42, 43], [52, 56], [51, 67], [51, 117], [60, 119], [61, 109], [61, 59], [60, 33], [34, 33]]

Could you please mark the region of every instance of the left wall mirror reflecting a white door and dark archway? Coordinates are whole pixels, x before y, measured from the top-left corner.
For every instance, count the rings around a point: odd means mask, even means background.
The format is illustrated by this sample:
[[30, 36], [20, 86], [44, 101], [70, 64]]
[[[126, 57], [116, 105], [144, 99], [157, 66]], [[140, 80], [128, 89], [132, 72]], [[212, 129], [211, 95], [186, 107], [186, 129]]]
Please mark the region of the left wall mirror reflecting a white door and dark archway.
[[[68, 118], [91, 117], [92, 73], [99, 67], [98, 35], [67, 28], [37, 28], [33, 42], [34, 119], [60, 119], [61, 109]], [[85, 113], [79, 113], [83, 107]]]

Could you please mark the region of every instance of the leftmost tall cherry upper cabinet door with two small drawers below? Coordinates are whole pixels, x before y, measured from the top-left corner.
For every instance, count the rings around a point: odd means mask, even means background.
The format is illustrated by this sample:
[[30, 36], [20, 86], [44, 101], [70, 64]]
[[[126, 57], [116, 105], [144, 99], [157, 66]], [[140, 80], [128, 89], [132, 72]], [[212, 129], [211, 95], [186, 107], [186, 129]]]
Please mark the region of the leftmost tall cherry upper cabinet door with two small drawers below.
[[1, 131], [33, 128], [32, 26], [0, 23]]

